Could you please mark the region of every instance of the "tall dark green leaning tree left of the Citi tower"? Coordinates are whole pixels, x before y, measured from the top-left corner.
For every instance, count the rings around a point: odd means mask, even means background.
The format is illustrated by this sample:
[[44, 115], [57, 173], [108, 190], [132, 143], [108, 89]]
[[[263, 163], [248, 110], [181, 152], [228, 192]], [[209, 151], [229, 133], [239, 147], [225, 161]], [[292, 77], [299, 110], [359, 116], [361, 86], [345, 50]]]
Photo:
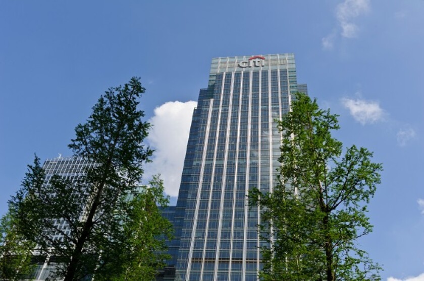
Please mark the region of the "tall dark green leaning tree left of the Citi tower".
[[[167, 203], [162, 187], [156, 185], [147, 191], [139, 187], [142, 164], [152, 154], [143, 144], [150, 124], [141, 120], [144, 113], [137, 109], [142, 93], [144, 88], [138, 78], [132, 78], [123, 87], [110, 88], [94, 105], [86, 123], [75, 128], [76, 137], [69, 148], [75, 157], [94, 163], [86, 169], [85, 176], [79, 180], [54, 176], [45, 182], [36, 157], [34, 164], [28, 166], [22, 188], [11, 200], [24, 237], [38, 245], [41, 255], [58, 265], [55, 277], [82, 280], [97, 272], [101, 275], [104, 268], [119, 276], [128, 268], [130, 258], [138, 254], [135, 244], [128, 248], [134, 233], [127, 229], [141, 220], [134, 214], [142, 212], [139, 204]], [[145, 193], [153, 190], [155, 197], [148, 198]], [[58, 220], [65, 221], [70, 232], [59, 229]], [[169, 224], [149, 223], [163, 227], [162, 233], [169, 233]], [[152, 243], [157, 242], [154, 239], [157, 231], [142, 227], [144, 235], [151, 238], [145, 241], [145, 249], [155, 256], [156, 246]], [[63, 239], [54, 239], [55, 234], [61, 234]], [[113, 251], [114, 255], [109, 254]], [[118, 259], [118, 254], [125, 258]], [[153, 272], [156, 264], [151, 266]]]

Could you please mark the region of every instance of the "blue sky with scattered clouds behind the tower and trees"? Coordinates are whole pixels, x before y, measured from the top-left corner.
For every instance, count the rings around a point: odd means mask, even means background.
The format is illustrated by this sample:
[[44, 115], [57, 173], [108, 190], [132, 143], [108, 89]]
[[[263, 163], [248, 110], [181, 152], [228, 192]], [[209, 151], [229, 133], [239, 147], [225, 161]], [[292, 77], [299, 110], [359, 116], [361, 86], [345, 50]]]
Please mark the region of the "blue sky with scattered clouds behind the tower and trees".
[[99, 95], [132, 76], [155, 125], [146, 174], [161, 172], [175, 195], [210, 59], [293, 52], [298, 81], [340, 114], [337, 137], [384, 163], [360, 245], [383, 280], [424, 280], [423, 15], [423, 0], [2, 0], [0, 214], [34, 152], [70, 155]]

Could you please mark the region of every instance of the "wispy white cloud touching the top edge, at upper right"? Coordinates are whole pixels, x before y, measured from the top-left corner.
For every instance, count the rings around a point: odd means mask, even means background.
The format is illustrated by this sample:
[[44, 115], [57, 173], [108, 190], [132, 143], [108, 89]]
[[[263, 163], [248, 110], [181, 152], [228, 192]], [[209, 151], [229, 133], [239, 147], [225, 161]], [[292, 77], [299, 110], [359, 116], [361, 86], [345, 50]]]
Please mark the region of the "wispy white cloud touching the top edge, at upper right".
[[337, 5], [336, 17], [342, 28], [342, 36], [346, 38], [357, 37], [358, 27], [352, 21], [358, 16], [369, 12], [369, 0], [345, 0]]

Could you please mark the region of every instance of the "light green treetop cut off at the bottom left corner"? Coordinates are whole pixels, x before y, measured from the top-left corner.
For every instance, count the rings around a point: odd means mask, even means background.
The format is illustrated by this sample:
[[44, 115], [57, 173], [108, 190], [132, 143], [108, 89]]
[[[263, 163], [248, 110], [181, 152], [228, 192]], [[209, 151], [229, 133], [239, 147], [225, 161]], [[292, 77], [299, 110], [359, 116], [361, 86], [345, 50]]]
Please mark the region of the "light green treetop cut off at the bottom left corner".
[[31, 273], [34, 244], [17, 231], [13, 209], [0, 220], [0, 280], [19, 280]]

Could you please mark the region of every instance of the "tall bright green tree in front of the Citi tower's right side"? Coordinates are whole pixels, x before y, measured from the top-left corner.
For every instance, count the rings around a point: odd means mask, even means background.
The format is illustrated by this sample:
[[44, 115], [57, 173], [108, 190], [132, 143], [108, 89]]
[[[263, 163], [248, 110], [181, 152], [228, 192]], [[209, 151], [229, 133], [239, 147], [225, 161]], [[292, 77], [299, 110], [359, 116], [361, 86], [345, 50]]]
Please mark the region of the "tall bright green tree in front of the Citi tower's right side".
[[357, 248], [372, 231], [367, 204], [380, 183], [382, 165], [373, 153], [332, 136], [337, 115], [297, 93], [292, 111], [278, 123], [282, 132], [279, 184], [258, 189], [249, 203], [259, 205], [262, 280], [380, 280], [378, 264]]

